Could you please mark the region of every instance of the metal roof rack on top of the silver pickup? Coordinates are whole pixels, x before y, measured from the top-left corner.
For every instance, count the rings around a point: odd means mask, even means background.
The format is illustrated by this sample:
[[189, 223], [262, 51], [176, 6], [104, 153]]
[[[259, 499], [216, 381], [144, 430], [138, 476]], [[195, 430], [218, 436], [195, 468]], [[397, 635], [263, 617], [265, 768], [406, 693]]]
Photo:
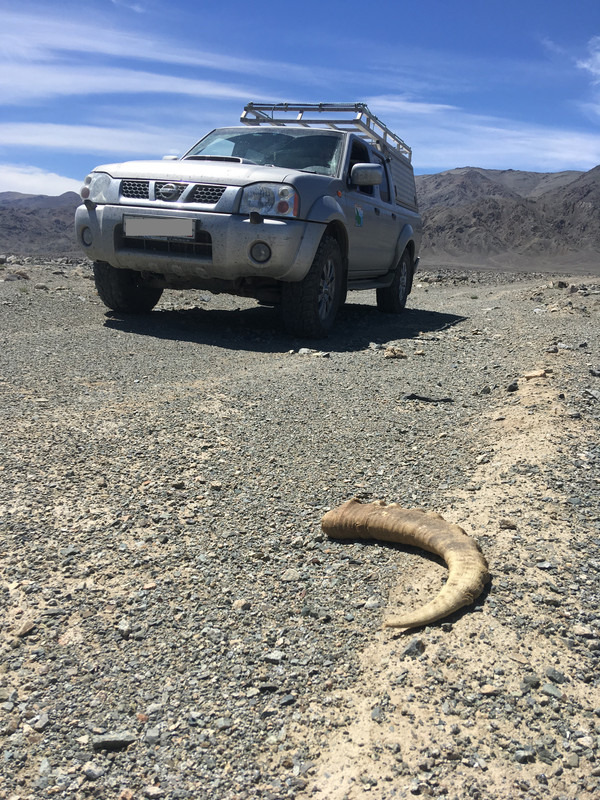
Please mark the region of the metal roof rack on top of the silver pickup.
[[[282, 116], [296, 114], [295, 118]], [[305, 117], [305, 114], [309, 114]], [[340, 116], [350, 114], [350, 117]], [[321, 116], [322, 115], [322, 116]], [[343, 132], [358, 132], [363, 139], [403, 155], [409, 161], [412, 151], [396, 136], [365, 103], [248, 103], [240, 117], [244, 125], [300, 125], [304, 128], [331, 128]]]

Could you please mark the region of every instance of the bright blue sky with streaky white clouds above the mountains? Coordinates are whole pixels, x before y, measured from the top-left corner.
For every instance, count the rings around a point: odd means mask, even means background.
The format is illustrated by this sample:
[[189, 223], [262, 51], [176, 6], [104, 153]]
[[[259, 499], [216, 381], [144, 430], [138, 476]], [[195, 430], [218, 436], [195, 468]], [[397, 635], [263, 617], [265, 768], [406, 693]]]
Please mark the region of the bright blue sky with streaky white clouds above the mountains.
[[600, 163], [600, 0], [0, 0], [0, 191], [183, 153], [255, 101], [367, 102], [418, 173]]

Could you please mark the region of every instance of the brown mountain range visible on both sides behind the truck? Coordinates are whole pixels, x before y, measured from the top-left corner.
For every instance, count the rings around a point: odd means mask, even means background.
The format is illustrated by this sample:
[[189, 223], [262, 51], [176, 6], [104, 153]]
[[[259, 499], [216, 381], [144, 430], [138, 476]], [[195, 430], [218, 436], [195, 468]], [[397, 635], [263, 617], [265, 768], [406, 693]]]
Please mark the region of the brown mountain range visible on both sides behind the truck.
[[[600, 166], [589, 172], [461, 167], [417, 176], [422, 265], [585, 267], [600, 264]], [[79, 197], [0, 192], [0, 252], [80, 256]]]

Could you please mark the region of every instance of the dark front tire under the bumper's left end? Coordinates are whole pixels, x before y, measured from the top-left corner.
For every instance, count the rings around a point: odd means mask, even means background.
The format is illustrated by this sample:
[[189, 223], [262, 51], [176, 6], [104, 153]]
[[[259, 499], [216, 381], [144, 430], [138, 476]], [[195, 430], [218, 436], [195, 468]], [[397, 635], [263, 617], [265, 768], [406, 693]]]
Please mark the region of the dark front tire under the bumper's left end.
[[104, 305], [122, 314], [151, 311], [163, 292], [148, 286], [139, 272], [115, 269], [106, 261], [94, 261], [94, 282]]

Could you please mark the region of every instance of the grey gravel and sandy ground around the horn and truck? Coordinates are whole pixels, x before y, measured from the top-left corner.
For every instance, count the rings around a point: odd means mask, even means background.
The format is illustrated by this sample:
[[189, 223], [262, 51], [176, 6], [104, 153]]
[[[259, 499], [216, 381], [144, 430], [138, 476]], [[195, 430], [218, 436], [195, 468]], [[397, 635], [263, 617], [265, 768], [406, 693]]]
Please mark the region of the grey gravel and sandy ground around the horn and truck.
[[[90, 274], [0, 266], [0, 798], [597, 797], [600, 277], [423, 272], [315, 345]], [[446, 571], [326, 540], [352, 496], [488, 591], [382, 631]]]

